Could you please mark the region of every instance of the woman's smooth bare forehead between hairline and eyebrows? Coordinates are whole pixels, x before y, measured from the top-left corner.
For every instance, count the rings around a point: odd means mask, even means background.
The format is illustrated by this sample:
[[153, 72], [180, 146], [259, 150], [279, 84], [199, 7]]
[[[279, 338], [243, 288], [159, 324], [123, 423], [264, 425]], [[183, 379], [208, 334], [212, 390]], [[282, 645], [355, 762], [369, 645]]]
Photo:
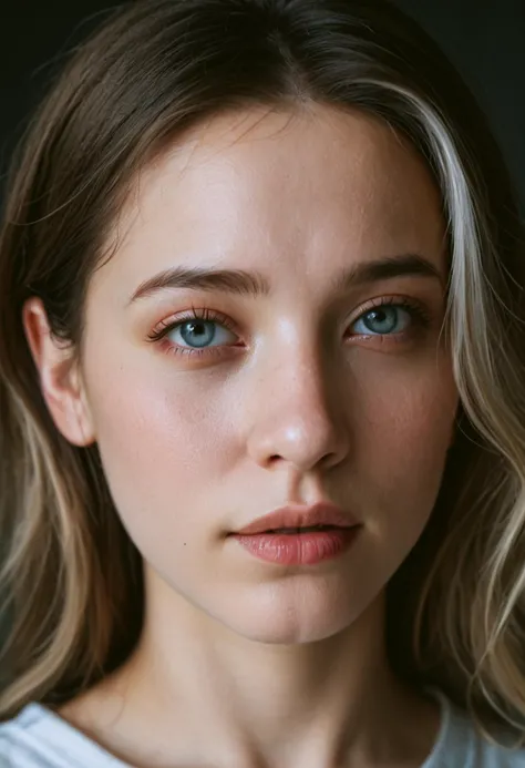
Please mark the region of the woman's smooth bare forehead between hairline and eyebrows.
[[110, 269], [136, 281], [181, 259], [302, 269], [439, 253], [443, 222], [406, 141], [372, 116], [316, 105], [253, 107], [193, 129], [140, 174], [119, 232]]

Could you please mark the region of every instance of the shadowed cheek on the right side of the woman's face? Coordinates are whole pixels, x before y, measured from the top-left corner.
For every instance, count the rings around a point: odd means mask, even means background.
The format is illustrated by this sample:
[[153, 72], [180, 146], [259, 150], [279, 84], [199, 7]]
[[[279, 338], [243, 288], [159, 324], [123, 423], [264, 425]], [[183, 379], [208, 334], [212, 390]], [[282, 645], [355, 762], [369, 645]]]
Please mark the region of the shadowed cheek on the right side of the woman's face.
[[367, 381], [356, 477], [368, 496], [370, 530], [395, 559], [415, 543], [434, 506], [459, 397], [449, 360], [435, 356]]

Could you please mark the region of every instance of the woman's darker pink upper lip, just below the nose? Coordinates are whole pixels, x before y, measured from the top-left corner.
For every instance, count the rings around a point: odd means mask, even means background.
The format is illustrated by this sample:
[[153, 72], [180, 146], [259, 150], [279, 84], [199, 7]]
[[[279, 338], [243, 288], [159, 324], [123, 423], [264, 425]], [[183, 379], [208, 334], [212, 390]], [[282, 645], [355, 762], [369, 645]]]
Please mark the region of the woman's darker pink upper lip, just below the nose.
[[310, 528], [311, 525], [337, 525], [352, 528], [358, 521], [340, 506], [319, 502], [311, 506], [281, 506], [246, 525], [239, 534], [265, 533], [281, 528]]

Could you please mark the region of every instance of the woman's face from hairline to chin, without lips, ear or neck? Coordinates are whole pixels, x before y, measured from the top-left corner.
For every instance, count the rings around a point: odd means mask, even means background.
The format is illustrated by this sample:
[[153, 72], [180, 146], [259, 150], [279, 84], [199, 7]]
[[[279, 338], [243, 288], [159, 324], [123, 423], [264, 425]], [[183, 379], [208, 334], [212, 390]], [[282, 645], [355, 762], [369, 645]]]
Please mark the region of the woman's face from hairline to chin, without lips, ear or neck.
[[[82, 375], [157, 588], [264, 642], [348, 627], [429, 519], [457, 406], [423, 162], [359, 113], [223, 115], [141, 174], [116, 229]], [[246, 275], [166, 285], [195, 269]], [[361, 523], [333, 560], [265, 563], [227, 535], [320, 500]]]

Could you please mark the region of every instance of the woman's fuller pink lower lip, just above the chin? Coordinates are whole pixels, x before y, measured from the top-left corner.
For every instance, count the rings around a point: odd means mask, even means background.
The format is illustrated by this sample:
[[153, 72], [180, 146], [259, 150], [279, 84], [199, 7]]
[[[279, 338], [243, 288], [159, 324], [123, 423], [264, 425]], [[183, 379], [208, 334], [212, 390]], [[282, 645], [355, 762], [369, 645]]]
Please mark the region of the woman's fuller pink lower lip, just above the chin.
[[316, 565], [346, 552], [358, 531], [359, 526], [354, 525], [307, 533], [236, 533], [233, 537], [253, 555], [268, 563]]

